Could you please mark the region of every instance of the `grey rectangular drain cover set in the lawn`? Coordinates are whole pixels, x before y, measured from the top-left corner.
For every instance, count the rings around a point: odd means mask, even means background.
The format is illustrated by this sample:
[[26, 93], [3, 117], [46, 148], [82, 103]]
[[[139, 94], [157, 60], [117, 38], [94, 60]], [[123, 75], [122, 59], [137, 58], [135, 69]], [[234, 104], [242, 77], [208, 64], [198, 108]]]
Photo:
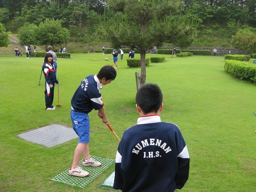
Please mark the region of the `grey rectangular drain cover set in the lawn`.
[[53, 124], [18, 135], [20, 138], [46, 147], [53, 147], [61, 143], [78, 138], [72, 128]]

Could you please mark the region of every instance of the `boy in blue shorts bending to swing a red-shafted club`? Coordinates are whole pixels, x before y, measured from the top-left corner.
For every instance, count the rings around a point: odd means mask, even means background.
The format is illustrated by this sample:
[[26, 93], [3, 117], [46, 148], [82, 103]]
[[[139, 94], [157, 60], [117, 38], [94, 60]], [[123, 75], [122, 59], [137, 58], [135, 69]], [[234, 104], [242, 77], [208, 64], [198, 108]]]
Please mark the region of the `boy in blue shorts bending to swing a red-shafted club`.
[[93, 109], [98, 110], [98, 116], [102, 118], [102, 122], [108, 123], [100, 89], [103, 88], [102, 85], [111, 83], [115, 78], [116, 70], [111, 65], [105, 65], [97, 75], [85, 77], [71, 99], [70, 117], [73, 129], [79, 136], [79, 141], [75, 149], [72, 166], [69, 168], [70, 175], [77, 177], [89, 175], [87, 171], [79, 166], [82, 155], [84, 155], [83, 166], [101, 166], [101, 162], [90, 157], [89, 153], [90, 121], [88, 113]]

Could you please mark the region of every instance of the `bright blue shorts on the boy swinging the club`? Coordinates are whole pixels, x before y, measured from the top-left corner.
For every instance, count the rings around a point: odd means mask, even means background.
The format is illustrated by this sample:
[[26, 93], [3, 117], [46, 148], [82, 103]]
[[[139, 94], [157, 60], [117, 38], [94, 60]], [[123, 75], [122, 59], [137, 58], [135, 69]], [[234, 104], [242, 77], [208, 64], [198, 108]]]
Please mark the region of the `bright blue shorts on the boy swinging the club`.
[[88, 114], [78, 113], [70, 110], [70, 117], [73, 129], [79, 136], [78, 143], [89, 143], [90, 141], [90, 122]]

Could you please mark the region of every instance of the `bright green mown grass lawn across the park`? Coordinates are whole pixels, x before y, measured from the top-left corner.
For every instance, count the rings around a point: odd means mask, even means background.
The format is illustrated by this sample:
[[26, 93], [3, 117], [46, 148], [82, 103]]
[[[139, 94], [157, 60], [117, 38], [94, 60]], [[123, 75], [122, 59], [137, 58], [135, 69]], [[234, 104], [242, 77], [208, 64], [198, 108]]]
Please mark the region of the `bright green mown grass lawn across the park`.
[[[57, 60], [62, 106], [55, 111], [44, 110], [43, 78], [38, 86], [43, 58], [0, 57], [0, 191], [107, 191], [98, 185], [114, 164], [84, 189], [50, 181], [71, 166], [77, 139], [46, 148], [17, 137], [49, 124], [71, 127], [71, 97], [84, 77], [113, 65], [112, 57], [105, 57], [108, 54], [71, 54], [70, 59]], [[134, 73], [140, 68], [128, 68], [127, 57], [118, 61], [115, 81], [101, 90], [109, 124], [119, 137], [138, 117]], [[162, 89], [161, 119], [179, 125], [189, 149], [190, 175], [182, 191], [256, 191], [256, 86], [227, 74], [224, 57], [165, 58], [146, 68], [147, 82]], [[97, 111], [89, 117], [90, 154], [115, 159], [115, 136]]]

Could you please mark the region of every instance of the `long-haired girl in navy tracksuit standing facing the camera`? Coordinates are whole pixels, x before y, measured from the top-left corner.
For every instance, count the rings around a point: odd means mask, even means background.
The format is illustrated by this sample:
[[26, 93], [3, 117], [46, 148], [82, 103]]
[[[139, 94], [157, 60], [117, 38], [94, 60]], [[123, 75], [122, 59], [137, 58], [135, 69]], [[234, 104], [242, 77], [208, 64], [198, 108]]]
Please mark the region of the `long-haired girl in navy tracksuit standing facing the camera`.
[[45, 110], [55, 110], [52, 105], [54, 97], [54, 85], [59, 84], [55, 75], [55, 67], [53, 65], [52, 53], [45, 54], [43, 64], [43, 74], [45, 75]]

